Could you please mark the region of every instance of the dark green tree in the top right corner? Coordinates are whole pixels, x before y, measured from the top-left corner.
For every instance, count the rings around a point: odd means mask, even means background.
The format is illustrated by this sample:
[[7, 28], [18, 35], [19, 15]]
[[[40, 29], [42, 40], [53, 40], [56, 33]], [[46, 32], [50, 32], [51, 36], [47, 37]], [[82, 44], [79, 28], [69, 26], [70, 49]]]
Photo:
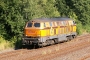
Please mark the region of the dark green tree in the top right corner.
[[81, 21], [83, 25], [90, 24], [90, 0], [69, 0], [67, 1], [67, 5], [70, 9], [78, 16], [78, 20]]

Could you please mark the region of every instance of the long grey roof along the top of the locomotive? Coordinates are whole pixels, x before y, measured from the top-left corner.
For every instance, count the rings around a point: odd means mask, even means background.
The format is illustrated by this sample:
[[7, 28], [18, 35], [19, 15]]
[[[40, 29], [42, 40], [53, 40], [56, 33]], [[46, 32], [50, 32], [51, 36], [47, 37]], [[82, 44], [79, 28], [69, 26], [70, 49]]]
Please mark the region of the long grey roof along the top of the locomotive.
[[65, 20], [73, 20], [73, 19], [71, 18], [37, 18], [30, 21], [48, 22], [48, 21], [65, 21]]

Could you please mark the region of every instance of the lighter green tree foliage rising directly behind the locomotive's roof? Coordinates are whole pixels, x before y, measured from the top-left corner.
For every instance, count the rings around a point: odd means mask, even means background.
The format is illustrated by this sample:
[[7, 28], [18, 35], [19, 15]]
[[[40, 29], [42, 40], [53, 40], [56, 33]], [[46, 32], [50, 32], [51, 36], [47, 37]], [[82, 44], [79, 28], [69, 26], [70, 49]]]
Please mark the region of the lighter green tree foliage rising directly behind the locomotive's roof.
[[41, 17], [57, 17], [60, 16], [57, 8], [54, 7], [55, 0], [23, 0], [25, 8], [23, 16], [25, 19], [35, 19]]

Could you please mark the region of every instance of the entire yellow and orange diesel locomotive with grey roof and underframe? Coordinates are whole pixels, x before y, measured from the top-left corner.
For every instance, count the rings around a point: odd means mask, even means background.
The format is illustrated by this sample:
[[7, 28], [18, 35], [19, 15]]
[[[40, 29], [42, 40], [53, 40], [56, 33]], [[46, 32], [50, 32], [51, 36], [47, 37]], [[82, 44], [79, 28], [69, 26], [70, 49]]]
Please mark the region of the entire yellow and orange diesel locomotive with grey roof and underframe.
[[23, 45], [46, 46], [76, 37], [76, 24], [70, 18], [40, 18], [27, 22]]

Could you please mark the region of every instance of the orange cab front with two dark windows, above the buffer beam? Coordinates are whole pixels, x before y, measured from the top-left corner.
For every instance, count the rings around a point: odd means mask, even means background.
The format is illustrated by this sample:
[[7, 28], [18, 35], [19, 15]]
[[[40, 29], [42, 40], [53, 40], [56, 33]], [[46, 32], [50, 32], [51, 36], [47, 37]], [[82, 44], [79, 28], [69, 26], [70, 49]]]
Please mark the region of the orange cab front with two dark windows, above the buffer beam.
[[39, 37], [40, 29], [43, 29], [43, 23], [40, 22], [28, 22], [25, 27], [25, 36], [27, 37]]

